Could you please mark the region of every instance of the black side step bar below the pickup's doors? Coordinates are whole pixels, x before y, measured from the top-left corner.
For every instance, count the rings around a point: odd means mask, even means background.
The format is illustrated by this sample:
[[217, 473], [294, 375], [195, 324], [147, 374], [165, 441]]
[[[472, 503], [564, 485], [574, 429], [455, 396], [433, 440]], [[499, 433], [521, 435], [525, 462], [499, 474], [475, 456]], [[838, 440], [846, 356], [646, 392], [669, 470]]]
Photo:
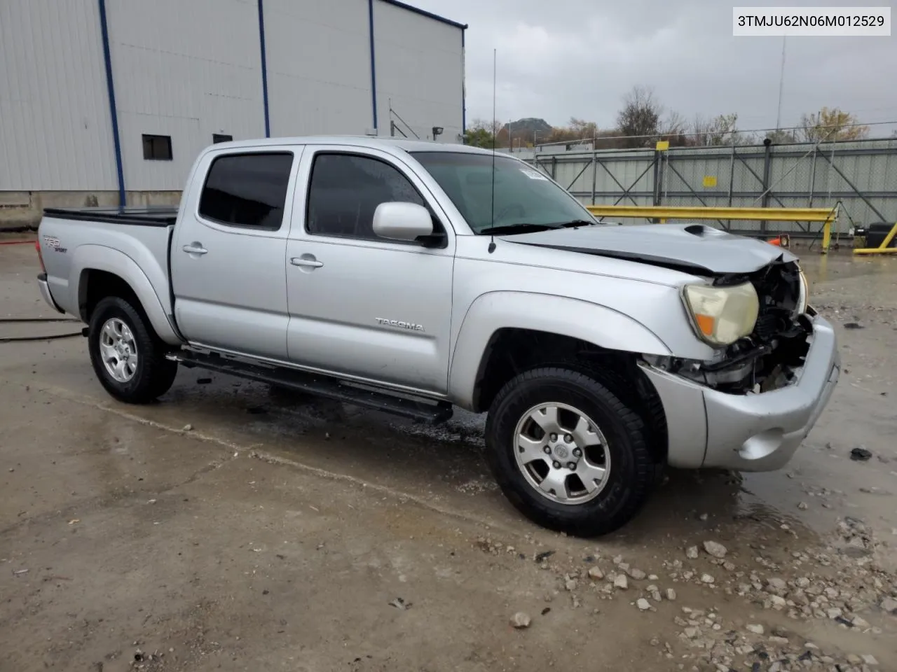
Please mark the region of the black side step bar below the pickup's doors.
[[341, 381], [326, 375], [307, 374], [283, 366], [250, 364], [239, 359], [224, 358], [221, 355], [209, 355], [194, 350], [172, 352], [167, 358], [188, 368], [196, 366], [260, 383], [281, 385], [314, 396], [344, 401], [356, 406], [422, 420], [431, 424], [445, 422], [452, 416], [452, 407], [448, 401], [414, 401], [388, 392], [374, 392], [362, 388], [356, 383]]

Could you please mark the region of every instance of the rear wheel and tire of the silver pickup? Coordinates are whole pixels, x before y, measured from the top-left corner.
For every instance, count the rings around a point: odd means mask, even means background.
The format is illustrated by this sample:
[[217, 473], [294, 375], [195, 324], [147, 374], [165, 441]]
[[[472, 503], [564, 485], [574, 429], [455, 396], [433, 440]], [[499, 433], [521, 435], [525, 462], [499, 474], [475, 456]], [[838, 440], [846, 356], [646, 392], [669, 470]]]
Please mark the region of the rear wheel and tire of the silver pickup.
[[149, 320], [122, 297], [105, 297], [93, 309], [87, 347], [100, 384], [118, 401], [149, 403], [178, 375]]

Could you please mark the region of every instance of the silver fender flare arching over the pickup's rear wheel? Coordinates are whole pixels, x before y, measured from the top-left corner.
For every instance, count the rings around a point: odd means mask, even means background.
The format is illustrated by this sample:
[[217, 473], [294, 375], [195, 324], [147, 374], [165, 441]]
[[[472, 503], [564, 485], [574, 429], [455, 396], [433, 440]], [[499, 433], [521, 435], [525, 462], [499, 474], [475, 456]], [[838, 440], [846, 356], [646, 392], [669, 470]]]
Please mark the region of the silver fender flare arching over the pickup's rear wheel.
[[68, 281], [69, 291], [72, 292], [69, 297], [69, 305], [77, 306], [79, 309], [84, 305], [87, 292], [87, 288], [83, 286], [82, 282], [83, 271], [107, 271], [125, 280], [140, 300], [140, 304], [159, 338], [171, 345], [181, 342], [178, 334], [171, 327], [159, 295], [152, 287], [152, 282], [144, 270], [127, 254], [112, 247], [100, 245], [83, 245], [75, 249], [71, 276]]

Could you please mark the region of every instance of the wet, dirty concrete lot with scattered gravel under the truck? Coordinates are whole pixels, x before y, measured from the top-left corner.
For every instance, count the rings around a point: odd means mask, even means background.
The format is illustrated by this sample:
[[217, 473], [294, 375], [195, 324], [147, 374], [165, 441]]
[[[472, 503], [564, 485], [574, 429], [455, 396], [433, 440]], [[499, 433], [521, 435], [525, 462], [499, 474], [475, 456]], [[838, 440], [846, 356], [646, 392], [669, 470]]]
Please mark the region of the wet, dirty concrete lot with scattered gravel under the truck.
[[[196, 369], [130, 407], [83, 339], [0, 342], [0, 670], [897, 669], [897, 260], [805, 264], [845, 370], [795, 460], [670, 473], [592, 541], [505, 502], [482, 418], [430, 429]], [[0, 318], [54, 316], [37, 272], [0, 246]]]

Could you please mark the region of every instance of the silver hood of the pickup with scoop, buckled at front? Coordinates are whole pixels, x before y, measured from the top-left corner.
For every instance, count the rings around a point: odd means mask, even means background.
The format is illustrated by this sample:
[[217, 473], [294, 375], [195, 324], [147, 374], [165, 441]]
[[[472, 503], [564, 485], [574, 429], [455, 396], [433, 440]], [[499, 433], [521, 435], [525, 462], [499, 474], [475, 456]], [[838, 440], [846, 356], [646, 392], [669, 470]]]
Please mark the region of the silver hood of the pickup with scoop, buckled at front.
[[596, 225], [503, 236], [519, 245], [597, 254], [699, 275], [751, 273], [797, 256], [703, 224]]

